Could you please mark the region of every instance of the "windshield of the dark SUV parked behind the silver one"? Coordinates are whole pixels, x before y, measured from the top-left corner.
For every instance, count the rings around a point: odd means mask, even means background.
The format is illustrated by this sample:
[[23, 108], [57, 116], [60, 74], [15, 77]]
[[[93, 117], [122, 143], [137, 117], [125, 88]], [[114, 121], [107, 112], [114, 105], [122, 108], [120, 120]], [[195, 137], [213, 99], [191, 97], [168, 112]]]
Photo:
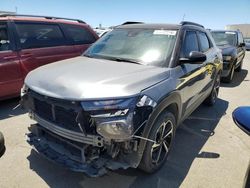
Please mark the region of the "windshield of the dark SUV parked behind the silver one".
[[231, 31], [222, 32], [212, 32], [212, 36], [217, 46], [232, 45], [237, 44], [237, 34]]

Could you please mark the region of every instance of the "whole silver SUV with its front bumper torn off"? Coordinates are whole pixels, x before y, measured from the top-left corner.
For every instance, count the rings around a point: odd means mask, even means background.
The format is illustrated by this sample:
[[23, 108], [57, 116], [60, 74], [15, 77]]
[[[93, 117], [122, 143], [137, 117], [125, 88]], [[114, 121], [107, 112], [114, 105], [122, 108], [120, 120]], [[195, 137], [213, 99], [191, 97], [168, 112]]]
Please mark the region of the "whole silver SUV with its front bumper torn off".
[[177, 126], [216, 101], [222, 55], [203, 26], [182, 22], [116, 27], [81, 57], [26, 77], [22, 105], [37, 124], [28, 142], [75, 171], [154, 172]]

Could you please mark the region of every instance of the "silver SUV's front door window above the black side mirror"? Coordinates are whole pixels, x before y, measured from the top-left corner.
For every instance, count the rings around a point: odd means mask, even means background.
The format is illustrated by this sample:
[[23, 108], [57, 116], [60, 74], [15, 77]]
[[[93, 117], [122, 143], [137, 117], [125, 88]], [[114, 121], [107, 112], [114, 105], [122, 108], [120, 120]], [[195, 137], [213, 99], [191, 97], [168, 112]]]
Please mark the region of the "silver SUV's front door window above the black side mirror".
[[197, 35], [195, 31], [186, 31], [181, 57], [188, 57], [192, 51], [199, 51]]

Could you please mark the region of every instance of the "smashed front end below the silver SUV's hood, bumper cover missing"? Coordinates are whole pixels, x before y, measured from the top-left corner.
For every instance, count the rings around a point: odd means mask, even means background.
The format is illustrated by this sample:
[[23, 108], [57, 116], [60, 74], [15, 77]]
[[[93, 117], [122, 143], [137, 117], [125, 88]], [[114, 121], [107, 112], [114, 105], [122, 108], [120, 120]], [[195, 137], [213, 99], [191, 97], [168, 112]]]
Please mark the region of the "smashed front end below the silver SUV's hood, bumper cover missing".
[[49, 160], [91, 177], [102, 176], [107, 170], [137, 168], [143, 153], [139, 144], [141, 139], [147, 140], [141, 133], [155, 104], [142, 97], [131, 110], [122, 106], [127, 101], [116, 102], [114, 112], [95, 109], [89, 102], [26, 93], [22, 106], [37, 122], [29, 128], [27, 141]]

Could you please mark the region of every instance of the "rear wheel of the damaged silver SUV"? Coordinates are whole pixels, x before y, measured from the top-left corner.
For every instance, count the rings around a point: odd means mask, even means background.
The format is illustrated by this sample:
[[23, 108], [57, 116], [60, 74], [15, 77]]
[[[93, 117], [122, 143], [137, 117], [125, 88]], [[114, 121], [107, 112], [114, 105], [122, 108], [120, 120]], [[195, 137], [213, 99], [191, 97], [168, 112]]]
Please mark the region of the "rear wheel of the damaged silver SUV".
[[218, 73], [217, 76], [215, 77], [213, 89], [210, 95], [205, 99], [204, 103], [207, 106], [213, 106], [218, 98], [219, 91], [220, 91], [220, 73]]

